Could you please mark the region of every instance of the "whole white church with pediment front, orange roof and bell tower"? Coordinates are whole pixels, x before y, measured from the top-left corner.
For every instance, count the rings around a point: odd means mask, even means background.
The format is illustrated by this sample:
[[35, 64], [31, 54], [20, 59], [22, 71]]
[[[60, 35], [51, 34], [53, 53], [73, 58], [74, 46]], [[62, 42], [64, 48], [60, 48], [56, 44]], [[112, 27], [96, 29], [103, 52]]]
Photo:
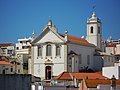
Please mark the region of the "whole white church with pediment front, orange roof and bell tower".
[[60, 34], [48, 20], [41, 34], [31, 42], [29, 73], [44, 80], [62, 72], [100, 71], [102, 60], [96, 56], [102, 50], [102, 22], [93, 12], [87, 20], [86, 39]]

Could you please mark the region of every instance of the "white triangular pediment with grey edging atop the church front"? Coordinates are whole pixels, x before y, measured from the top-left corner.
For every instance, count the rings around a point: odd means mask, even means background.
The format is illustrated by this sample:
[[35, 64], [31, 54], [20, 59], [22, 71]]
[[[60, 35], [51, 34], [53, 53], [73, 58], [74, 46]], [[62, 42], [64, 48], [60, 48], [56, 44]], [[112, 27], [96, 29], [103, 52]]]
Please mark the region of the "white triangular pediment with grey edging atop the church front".
[[42, 31], [42, 33], [35, 40], [33, 40], [32, 44], [46, 42], [64, 43], [66, 41], [63, 37], [61, 37], [57, 32], [52, 30], [50, 27], [46, 27]]

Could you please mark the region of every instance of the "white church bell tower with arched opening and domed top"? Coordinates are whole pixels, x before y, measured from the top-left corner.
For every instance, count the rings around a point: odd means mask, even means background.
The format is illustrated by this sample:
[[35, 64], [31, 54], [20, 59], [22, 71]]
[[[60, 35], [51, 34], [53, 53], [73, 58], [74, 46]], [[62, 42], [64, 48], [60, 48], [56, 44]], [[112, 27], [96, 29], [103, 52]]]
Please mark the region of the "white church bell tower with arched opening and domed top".
[[95, 12], [87, 20], [86, 40], [94, 44], [97, 48], [102, 49], [102, 23]]

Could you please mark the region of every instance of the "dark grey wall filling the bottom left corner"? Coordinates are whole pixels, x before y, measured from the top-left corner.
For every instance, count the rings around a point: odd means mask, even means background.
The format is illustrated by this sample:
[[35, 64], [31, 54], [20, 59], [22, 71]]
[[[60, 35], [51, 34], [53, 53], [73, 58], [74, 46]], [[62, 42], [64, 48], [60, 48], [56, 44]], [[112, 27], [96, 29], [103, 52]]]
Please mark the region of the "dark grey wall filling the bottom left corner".
[[31, 90], [30, 74], [0, 74], [0, 90]]

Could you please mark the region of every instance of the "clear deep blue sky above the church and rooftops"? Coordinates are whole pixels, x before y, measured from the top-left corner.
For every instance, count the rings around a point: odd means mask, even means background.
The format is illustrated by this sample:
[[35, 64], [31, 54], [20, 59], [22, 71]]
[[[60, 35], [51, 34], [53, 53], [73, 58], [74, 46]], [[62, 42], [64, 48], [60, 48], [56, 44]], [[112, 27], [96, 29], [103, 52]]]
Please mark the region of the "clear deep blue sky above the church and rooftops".
[[16, 43], [33, 31], [38, 36], [49, 16], [59, 33], [86, 36], [93, 11], [102, 21], [103, 40], [120, 39], [120, 0], [0, 0], [0, 43]]

